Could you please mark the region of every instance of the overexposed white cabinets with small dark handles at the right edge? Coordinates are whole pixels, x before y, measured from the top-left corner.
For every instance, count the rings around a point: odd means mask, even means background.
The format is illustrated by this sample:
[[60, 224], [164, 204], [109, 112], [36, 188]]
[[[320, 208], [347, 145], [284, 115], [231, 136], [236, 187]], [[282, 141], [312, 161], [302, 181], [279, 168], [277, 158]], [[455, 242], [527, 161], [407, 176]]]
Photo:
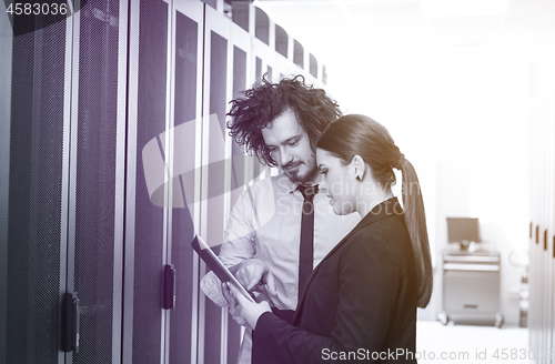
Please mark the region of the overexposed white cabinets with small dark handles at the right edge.
[[[531, 224], [529, 224], [529, 347], [536, 363], [551, 363], [555, 347], [555, 92], [542, 75], [544, 64], [533, 63], [537, 88], [531, 97]], [[541, 85], [541, 87], [539, 87]]]

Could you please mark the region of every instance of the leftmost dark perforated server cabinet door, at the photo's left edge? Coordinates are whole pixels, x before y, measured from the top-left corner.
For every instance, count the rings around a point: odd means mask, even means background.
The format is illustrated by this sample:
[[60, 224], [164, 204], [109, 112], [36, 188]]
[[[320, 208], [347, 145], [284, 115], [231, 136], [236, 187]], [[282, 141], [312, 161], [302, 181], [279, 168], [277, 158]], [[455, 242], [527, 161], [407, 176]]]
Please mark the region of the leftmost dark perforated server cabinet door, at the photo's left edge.
[[0, 18], [0, 362], [62, 363], [71, 23]]

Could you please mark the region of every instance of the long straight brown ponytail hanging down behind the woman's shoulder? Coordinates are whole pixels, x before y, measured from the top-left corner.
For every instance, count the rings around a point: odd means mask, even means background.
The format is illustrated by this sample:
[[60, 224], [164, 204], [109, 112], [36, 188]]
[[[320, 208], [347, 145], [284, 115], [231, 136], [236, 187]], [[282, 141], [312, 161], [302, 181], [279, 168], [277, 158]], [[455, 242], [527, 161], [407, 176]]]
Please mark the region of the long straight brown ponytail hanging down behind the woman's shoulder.
[[403, 211], [416, 266], [417, 306], [424, 309], [430, 303], [433, 290], [432, 255], [427, 239], [424, 202], [422, 200], [418, 178], [412, 163], [405, 160], [403, 155], [396, 168], [403, 173]]

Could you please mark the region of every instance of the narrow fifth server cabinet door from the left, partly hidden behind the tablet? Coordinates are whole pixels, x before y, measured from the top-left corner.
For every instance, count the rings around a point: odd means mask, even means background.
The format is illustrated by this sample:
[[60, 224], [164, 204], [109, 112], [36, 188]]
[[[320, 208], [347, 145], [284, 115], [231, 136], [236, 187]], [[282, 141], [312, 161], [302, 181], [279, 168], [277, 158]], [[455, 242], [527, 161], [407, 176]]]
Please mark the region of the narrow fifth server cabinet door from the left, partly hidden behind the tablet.
[[[226, 103], [231, 95], [231, 21], [204, 4], [203, 140], [200, 233], [219, 253], [228, 216], [231, 145], [225, 142]], [[202, 263], [200, 275], [206, 273]], [[199, 363], [226, 356], [226, 311], [199, 297]]]

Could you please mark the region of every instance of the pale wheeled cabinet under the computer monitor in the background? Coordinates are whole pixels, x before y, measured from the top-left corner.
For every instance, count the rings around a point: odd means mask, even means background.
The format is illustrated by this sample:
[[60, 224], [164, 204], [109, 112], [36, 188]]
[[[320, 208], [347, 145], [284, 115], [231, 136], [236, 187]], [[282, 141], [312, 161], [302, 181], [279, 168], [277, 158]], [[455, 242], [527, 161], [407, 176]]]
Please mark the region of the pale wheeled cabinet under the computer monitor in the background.
[[437, 318], [444, 325], [453, 321], [501, 327], [500, 273], [500, 253], [492, 246], [463, 250], [450, 244], [442, 252], [443, 311]]

